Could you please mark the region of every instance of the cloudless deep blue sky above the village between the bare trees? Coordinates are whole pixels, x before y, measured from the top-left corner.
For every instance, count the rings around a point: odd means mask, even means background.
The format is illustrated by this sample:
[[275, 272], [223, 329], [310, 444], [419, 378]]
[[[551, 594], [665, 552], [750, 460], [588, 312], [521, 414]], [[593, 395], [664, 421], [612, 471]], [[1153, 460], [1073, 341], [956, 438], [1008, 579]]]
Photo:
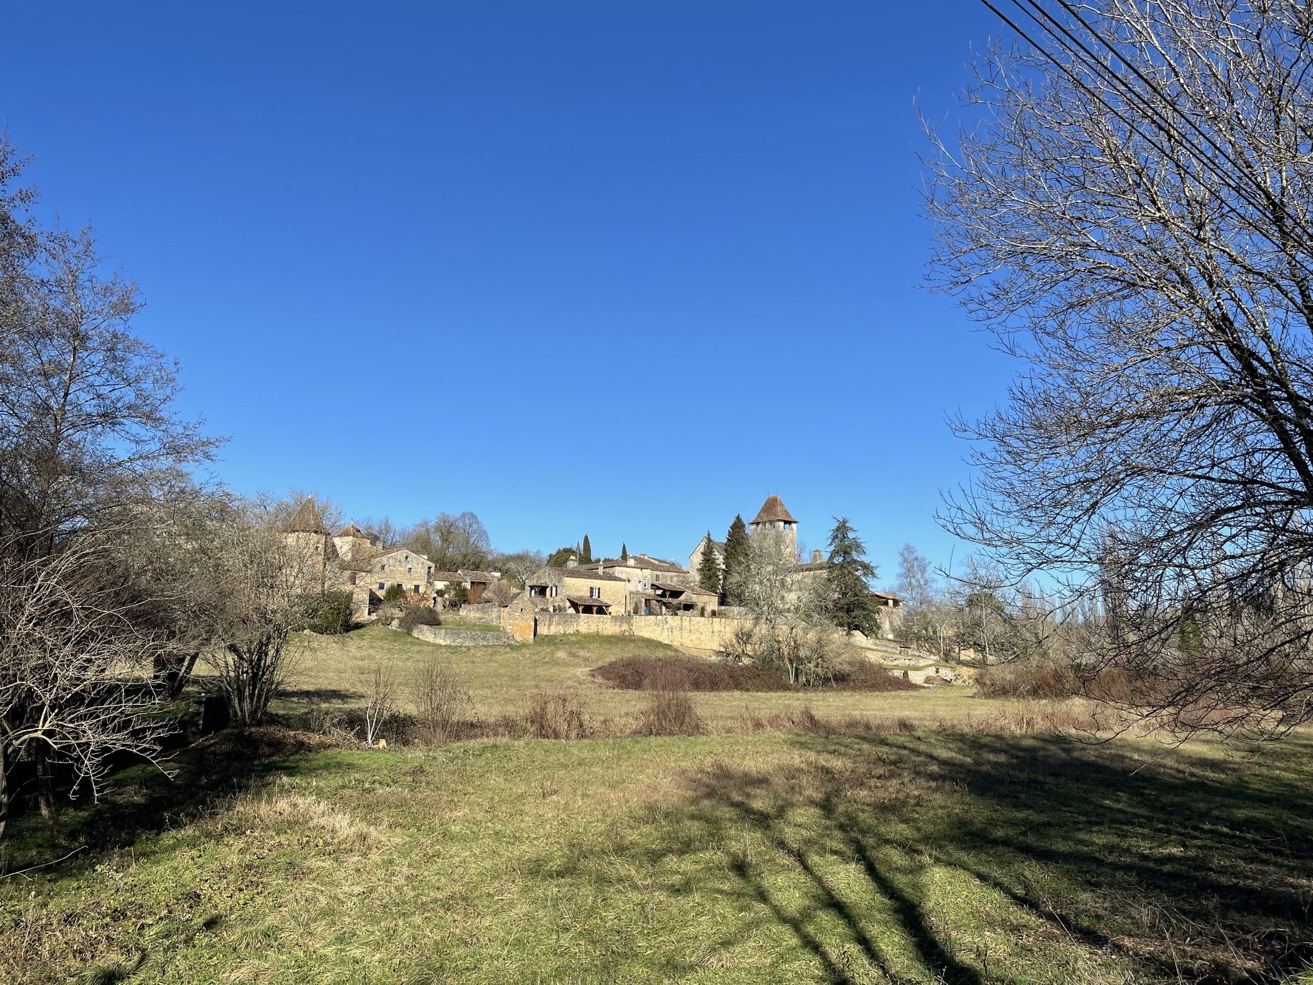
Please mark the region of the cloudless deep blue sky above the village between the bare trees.
[[[0, 120], [218, 473], [687, 557], [779, 492], [881, 580], [1010, 366], [916, 285], [979, 4], [7, 4]], [[958, 557], [961, 545], [956, 548]]]

